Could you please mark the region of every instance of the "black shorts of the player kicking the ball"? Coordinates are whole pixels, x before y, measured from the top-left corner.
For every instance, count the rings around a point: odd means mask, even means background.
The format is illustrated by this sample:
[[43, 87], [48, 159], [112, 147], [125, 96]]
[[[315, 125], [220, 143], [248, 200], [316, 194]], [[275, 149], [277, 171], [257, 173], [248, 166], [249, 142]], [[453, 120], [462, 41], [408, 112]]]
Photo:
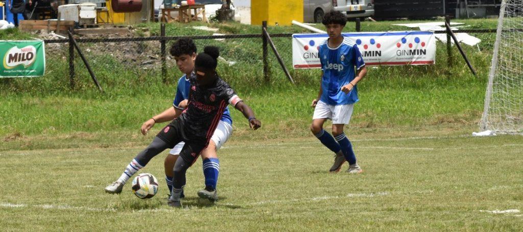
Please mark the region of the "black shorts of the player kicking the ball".
[[184, 123], [175, 119], [158, 132], [156, 137], [167, 143], [170, 148], [173, 148], [180, 142], [185, 142], [184, 147], [181, 148], [180, 157], [192, 165], [200, 155], [201, 151], [207, 147], [209, 141], [205, 138], [187, 136], [184, 129]]

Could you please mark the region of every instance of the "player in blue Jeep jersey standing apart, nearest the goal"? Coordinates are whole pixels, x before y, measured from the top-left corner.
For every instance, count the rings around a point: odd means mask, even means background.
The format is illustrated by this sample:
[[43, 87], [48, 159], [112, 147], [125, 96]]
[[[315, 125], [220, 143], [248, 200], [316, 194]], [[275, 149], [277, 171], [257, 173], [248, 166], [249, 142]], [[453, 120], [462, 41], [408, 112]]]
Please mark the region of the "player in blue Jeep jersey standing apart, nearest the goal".
[[[322, 65], [320, 92], [312, 100], [314, 115], [311, 131], [323, 145], [336, 154], [330, 172], [338, 172], [348, 161], [349, 173], [361, 173], [350, 141], [343, 132], [349, 124], [354, 104], [358, 102], [358, 82], [367, 74], [367, 68], [356, 43], [343, 37], [342, 30], [347, 18], [339, 11], [331, 11], [323, 17], [328, 39], [320, 44], [319, 57]], [[356, 68], [356, 73], [355, 73]], [[327, 119], [332, 120], [332, 134], [323, 130]]]

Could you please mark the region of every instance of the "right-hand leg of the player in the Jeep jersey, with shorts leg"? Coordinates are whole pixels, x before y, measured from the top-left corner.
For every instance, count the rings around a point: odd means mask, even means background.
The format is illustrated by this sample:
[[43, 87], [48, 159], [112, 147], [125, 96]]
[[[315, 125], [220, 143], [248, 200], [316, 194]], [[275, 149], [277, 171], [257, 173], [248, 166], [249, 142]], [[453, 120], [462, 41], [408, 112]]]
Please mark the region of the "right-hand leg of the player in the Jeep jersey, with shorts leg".
[[340, 105], [336, 106], [334, 109], [333, 124], [332, 124], [332, 134], [338, 142], [339, 146], [342, 148], [342, 152], [345, 156], [345, 159], [349, 163], [349, 169], [347, 172], [350, 173], [360, 173], [363, 170], [358, 166], [356, 155], [354, 154], [353, 145], [350, 143], [349, 139], [345, 135], [343, 129], [345, 124], [349, 124], [350, 118], [353, 114], [354, 104], [350, 105]]

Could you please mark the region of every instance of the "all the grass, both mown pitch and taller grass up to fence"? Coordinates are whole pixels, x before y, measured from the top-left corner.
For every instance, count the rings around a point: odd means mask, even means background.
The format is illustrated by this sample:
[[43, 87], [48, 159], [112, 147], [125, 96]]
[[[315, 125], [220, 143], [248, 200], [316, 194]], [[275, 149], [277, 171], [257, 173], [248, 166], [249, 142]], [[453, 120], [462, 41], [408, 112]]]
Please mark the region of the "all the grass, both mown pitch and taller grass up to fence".
[[[470, 25], [466, 29], [496, 27], [495, 19], [456, 21]], [[392, 24], [408, 22], [413, 21], [365, 21], [361, 26], [363, 31], [407, 30]], [[345, 31], [354, 31], [354, 23], [348, 25]], [[210, 26], [226, 34], [260, 32], [258, 26]], [[159, 26], [137, 28], [154, 36]], [[269, 31], [304, 32], [295, 26]], [[167, 36], [210, 33], [167, 25]], [[153, 199], [136, 198], [129, 185], [121, 195], [104, 192], [161, 127], [139, 134], [144, 120], [172, 103], [180, 76], [172, 61], [164, 84], [159, 67], [143, 69], [116, 59], [108, 54], [116, 47], [87, 52], [96, 47], [82, 43], [105, 90], [100, 93], [78, 58], [76, 87], [70, 89], [67, 46], [54, 48], [46, 76], [0, 78], [0, 228], [522, 231], [523, 213], [488, 212], [523, 211], [523, 141], [521, 136], [470, 136], [479, 130], [495, 34], [474, 36], [482, 40], [479, 46], [463, 47], [477, 76], [455, 47], [449, 66], [441, 42], [435, 65], [369, 67], [346, 129], [365, 170], [352, 176], [327, 173], [333, 156], [309, 131], [319, 70], [291, 69], [297, 80], [293, 86], [269, 55], [271, 79], [266, 83], [259, 39], [198, 41], [199, 49], [219, 44], [227, 60], [237, 61], [232, 66], [220, 62], [219, 72], [253, 108], [262, 127], [248, 130], [241, 113], [232, 110], [234, 133], [219, 151], [221, 200], [197, 199], [196, 191], [203, 187], [198, 161], [188, 171], [183, 209], [165, 204], [166, 153], [142, 170], [160, 181]], [[32, 37], [16, 29], [0, 31], [0, 39]], [[275, 38], [275, 43], [290, 68], [290, 38]], [[154, 43], [128, 45], [159, 51]]]

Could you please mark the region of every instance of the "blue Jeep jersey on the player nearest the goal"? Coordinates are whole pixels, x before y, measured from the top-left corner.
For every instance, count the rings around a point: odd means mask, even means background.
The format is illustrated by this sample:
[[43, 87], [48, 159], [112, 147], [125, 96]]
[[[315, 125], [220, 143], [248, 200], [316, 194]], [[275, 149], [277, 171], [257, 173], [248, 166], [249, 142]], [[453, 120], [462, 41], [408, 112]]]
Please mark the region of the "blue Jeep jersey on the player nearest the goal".
[[322, 65], [322, 96], [321, 101], [328, 105], [347, 105], [356, 103], [358, 88], [354, 86], [349, 94], [342, 92], [342, 86], [348, 85], [356, 77], [354, 67], [365, 66], [363, 57], [356, 43], [344, 38], [337, 48], [330, 48], [327, 40], [320, 44], [319, 56]]

